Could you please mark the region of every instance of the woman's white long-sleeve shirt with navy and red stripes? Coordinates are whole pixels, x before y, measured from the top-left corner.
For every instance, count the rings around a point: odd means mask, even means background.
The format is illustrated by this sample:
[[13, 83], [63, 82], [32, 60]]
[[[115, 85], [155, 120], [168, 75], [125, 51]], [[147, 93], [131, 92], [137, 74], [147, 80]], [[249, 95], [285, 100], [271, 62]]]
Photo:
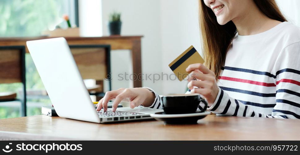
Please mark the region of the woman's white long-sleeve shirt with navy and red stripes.
[[[283, 22], [263, 33], [237, 34], [217, 81], [219, 93], [208, 110], [225, 116], [300, 119], [299, 81], [297, 26]], [[162, 108], [155, 95], [150, 107]]]

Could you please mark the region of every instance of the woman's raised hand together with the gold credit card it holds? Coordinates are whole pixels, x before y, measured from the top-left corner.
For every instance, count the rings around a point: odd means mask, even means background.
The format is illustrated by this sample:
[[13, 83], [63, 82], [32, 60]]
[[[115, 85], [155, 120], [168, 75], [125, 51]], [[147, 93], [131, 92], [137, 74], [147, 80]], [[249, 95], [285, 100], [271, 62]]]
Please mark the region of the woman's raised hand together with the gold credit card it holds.
[[215, 73], [203, 65], [204, 60], [191, 46], [169, 64], [179, 81], [188, 80], [187, 87], [191, 93], [205, 97], [208, 104], [213, 104], [219, 93]]

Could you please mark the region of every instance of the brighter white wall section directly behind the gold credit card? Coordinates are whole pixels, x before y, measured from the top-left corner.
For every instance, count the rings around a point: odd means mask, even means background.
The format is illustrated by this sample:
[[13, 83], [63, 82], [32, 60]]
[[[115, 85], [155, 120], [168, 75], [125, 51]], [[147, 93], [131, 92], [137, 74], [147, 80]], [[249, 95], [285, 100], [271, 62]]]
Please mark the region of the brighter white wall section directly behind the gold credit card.
[[[168, 67], [178, 55], [193, 45], [201, 52], [198, 21], [198, 0], [161, 0], [162, 69], [173, 73]], [[202, 55], [202, 54], [201, 54]], [[163, 93], [185, 93], [186, 81], [163, 82]]]

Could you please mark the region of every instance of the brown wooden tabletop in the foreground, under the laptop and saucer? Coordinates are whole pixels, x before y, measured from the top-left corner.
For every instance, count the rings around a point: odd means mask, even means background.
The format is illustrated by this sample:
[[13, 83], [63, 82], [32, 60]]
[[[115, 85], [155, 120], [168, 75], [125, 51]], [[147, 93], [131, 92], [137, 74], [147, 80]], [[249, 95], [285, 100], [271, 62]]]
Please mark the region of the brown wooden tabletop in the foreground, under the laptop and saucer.
[[198, 124], [97, 124], [37, 115], [0, 120], [0, 140], [300, 140], [300, 120], [218, 117]]

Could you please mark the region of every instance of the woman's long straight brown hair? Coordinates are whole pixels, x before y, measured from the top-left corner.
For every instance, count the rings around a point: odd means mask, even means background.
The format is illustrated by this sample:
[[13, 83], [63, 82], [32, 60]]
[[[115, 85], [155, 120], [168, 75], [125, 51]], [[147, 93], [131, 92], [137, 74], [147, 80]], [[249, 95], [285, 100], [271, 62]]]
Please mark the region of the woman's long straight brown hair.
[[[287, 21], [275, 0], [253, 1], [269, 18], [281, 22]], [[232, 21], [225, 25], [218, 24], [214, 12], [205, 5], [203, 0], [199, 0], [199, 25], [205, 65], [216, 74], [216, 79], [218, 79], [226, 52], [237, 33], [236, 26]]]

